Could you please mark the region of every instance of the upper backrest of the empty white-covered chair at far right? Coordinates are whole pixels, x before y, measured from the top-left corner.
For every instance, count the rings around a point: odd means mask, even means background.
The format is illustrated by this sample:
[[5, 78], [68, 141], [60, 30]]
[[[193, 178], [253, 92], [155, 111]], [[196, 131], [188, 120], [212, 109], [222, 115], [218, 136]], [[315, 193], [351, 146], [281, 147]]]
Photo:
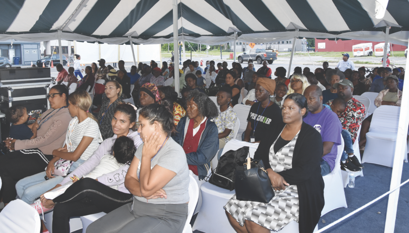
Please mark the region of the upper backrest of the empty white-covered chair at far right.
[[398, 132], [400, 107], [382, 105], [375, 109], [372, 116], [371, 127], [372, 130], [384, 130], [389, 132]]

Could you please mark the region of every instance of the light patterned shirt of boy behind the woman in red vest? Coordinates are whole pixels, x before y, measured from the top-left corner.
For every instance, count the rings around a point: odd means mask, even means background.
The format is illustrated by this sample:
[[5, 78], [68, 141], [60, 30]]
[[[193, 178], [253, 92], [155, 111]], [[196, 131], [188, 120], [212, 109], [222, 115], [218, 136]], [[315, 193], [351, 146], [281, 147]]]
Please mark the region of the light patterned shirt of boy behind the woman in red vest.
[[218, 133], [220, 134], [224, 132], [225, 129], [231, 130], [230, 134], [225, 137], [225, 141], [227, 143], [228, 141], [233, 139], [234, 125], [236, 125], [237, 114], [236, 111], [234, 111], [234, 109], [230, 106], [224, 112], [220, 112], [220, 107], [217, 108], [217, 111], [218, 116], [216, 118], [213, 118], [213, 120], [214, 123], [216, 123]]

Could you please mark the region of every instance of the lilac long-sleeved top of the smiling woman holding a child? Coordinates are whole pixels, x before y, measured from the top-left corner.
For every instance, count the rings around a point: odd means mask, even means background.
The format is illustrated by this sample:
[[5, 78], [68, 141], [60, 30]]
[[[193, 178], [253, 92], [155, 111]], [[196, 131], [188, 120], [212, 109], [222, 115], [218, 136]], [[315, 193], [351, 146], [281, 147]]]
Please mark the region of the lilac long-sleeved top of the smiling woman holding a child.
[[[129, 133], [127, 136], [134, 141], [136, 148], [138, 148], [139, 145], [142, 144], [142, 139], [140, 138], [139, 133], [137, 131], [129, 130]], [[94, 154], [90, 158], [88, 158], [83, 164], [81, 164], [74, 171], [72, 171], [68, 176], [66, 176], [63, 179], [63, 181], [61, 181], [59, 184], [64, 185], [65, 183], [72, 181], [70, 177], [74, 175], [78, 176], [78, 178], [81, 178], [84, 175], [87, 175], [88, 173], [90, 173], [92, 170], [94, 170], [94, 168], [99, 165], [99, 162], [101, 162], [101, 158], [104, 155], [111, 154], [112, 145], [114, 145], [116, 139], [117, 139], [116, 134], [112, 138], [105, 139], [101, 143], [101, 145], [99, 145], [98, 149], [94, 152]], [[129, 165], [125, 164], [124, 166], [119, 167], [116, 171], [112, 171], [110, 173], [103, 174], [97, 179], [100, 183], [106, 186], [117, 186], [118, 185], [118, 191], [121, 191], [123, 193], [129, 193], [128, 189], [126, 189], [125, 184], [124, 184], [125, 175], [128, 172], [128, 168], [129, 168]]]

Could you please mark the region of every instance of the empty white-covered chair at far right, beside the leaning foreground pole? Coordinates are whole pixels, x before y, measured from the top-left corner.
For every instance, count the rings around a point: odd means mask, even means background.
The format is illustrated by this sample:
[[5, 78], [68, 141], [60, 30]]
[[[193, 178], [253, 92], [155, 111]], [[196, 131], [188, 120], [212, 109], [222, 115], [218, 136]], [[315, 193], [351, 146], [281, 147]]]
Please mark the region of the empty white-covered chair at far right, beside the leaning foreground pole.
[[[395, 145], [398, 137], [400, 107], [382, 105], [373, 112], [362, 163], [375, 163], [393, 167]], [[407, 162], [407, 148], [405, 149]]]

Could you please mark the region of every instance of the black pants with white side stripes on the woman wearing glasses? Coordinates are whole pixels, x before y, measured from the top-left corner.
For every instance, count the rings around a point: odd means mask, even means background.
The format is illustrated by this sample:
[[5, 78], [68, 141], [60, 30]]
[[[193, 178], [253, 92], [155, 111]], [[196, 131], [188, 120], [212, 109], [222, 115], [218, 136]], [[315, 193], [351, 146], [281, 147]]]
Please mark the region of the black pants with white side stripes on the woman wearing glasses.
[[22, 149], [0, 155], [0, 197], [4, 203], [16, 199], [16, 183], [22, 178], [44, 171], [52, 155], [43, 154], [39, 149]]

